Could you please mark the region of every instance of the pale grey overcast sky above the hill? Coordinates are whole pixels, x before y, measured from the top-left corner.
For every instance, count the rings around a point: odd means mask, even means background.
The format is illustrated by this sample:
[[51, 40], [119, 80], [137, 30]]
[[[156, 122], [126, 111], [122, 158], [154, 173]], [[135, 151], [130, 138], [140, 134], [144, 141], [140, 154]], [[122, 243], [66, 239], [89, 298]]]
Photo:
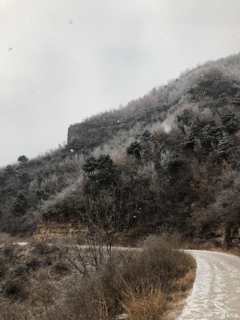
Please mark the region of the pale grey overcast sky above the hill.
[[240, 51], [239, 0], [0, 0], [0, 166]]

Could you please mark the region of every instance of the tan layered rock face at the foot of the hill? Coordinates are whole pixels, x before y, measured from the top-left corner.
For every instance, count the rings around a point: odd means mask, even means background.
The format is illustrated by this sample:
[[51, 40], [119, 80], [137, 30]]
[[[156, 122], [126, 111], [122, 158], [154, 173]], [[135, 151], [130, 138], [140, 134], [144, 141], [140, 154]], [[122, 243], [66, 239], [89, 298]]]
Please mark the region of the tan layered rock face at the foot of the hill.
[[[81, 230], [84, 231], [84, 230]], [[61, 236], [72, 236], [80, 232], [74, 222], [41, 221], [34, 233], [34, 239], [52, 239]]]

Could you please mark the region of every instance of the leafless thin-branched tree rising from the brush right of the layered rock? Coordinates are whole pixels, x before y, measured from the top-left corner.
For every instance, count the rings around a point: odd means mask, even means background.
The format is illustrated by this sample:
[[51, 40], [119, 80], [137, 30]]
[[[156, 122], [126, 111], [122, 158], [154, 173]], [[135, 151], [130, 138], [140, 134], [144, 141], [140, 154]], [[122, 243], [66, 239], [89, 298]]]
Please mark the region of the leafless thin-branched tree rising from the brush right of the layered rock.
[[60, 260], [75, 268], [81, 275], [90, 277], [93, 271], [108, 268], [113, 274], [125, 251], [116, 259], [113, 246], [124, 239], [131, 216], [137, 211], [130, 201], [124, 201], [123, 190], [110, 186], [95, 194], [94, 184], [86, 200], [81, 196], [84, 212], [81, 215], [80, 232], [70, 240], [58, 244]]

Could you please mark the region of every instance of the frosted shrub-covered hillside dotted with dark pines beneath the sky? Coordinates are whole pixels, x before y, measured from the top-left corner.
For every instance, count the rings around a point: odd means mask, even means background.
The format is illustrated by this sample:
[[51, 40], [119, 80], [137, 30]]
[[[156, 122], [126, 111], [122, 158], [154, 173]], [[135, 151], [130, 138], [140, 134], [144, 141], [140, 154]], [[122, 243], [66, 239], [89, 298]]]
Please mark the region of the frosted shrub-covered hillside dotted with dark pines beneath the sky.
[[239, 110], [240, 53], [71, 125], [66, 146], [1, 169], [0, 230], [76, 232], [98, 208], [129, 214], [133, 238], [164, 225], [238, 244]]

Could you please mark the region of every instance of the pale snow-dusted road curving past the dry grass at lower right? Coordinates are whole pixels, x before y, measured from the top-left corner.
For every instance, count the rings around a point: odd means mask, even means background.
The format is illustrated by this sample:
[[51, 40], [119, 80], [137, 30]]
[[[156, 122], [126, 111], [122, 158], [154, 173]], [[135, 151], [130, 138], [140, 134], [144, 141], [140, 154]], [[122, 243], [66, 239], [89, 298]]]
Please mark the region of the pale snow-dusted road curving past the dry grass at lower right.
[[196, 279], [179, 320], [240, 320], [240, 258], [186, 250], [197, 262]]

